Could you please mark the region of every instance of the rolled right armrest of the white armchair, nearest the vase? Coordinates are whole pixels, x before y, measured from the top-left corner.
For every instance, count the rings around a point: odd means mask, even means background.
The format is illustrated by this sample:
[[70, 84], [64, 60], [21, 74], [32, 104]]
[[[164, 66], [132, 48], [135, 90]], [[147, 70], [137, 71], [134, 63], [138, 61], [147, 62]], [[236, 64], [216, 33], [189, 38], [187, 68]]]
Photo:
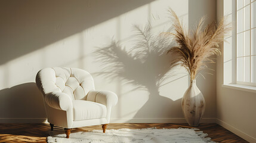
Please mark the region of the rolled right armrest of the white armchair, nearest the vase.
[[116, 105], [118, 96], [112, 91], [89, 91], [87, 101], [98, 102], [108, 106]]

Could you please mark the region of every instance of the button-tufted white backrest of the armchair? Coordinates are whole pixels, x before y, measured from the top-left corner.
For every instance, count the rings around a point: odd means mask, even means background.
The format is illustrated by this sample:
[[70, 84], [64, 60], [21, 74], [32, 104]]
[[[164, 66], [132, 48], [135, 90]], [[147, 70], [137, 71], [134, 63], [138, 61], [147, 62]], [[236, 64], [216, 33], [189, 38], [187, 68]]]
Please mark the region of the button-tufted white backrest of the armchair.
[[54, 67], [42, 69], [36, 75], [36, 85], [43, 92], [63, 92], [72, 100], [85, 100], [88, 92], [94, 90], [90, 73], [82, 69]]

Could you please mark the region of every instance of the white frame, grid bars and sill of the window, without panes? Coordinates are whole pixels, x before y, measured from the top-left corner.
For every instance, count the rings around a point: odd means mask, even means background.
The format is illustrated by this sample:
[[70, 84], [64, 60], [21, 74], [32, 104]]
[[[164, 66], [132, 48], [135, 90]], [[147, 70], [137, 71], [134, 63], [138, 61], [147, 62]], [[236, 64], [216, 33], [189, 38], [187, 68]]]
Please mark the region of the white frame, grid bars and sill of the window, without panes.
[[[241, 0], [239, 0], [239, 1], [241, 1]], [[243, 5], [244, 5], [244, 0], [242, 0], [243, 1]], [[226, 61], [224, 61], [224, 56], [225, 56], [225, 50], [223, 51], [223, 85], [224, 85], [224, 87], [227, 87], [227, 88], [230, 88], [230, 86], [233, 86], [233, 88], [238, 88], [239, 87], [239, 89], [241, 89], [241, 88], [245, 88], [245, 89], [252, 89], [253, 91], [255, 91], [256, 90], [256, 83], [254, 83], [254, 82], [252, 82], [252, 56], [255, 56], [255, 55], [252, 55], [252, 29], [256, 29], [256, 27], [253, 27], [252, 28], [252, 3], [253, 2], [255, 2], [256, 0], [249, 0], [249, 4], [247, 4], [247, 5], [244, 5], [244, 6], [242, 6], [241, 8], [239, 8], [238, 9], [238, 7], [237, 7], [237, 4], [236, 4], [236, 2], [237, 2], [237, 0], [230, 0], [230, 2], [232, 2], [232, 4], [226, 4], [225, 5], [225, 1], [223, 1], [224, 2], [224, 7], [223, 7], [223, 9], [224, 9], [224, 15], [227, 15], [229, 18], [231, 18], [232, 20], [232, 27], [233, 27], [233, 29], [232, 29], [232, 36], [229, 36], [229, 37], [225, 37], [224, 38], [224, 40], [226, 40], [226, 39], [229, 39], [229, 38], [231, 38], [231, 52], [232, 52], [232, 54], [231, 54], [231, 58], [229, 58], [230, 60], [228, 60], [228, 61], [230, 61], [231, 63], [230, 63], [230, 65], [231, 65], [231, 69], [230, 69], [230, 71], [225, 71], [225, 63], [226, 63]], [[227, 2], [227, 1], [226, 1]], [[228, 3], [228, 2], [227, 2]], [[249, 5], [249, 8], [250, 8], [250, 21], [249, 21], [249, 29], [248, 30], [244, 30], [245, 29], [245, 20], [244, 20], [244, 17], [245, 17], [245, 7], [247, 7]], [[225, 8], [227, 8], [227, 14], [226, 14], [226, 11], [225, 11]], [[238, 27], [237, 27], [237, 23], [238, 23], [238, 21], [237, 21], [237, 19], [238, 19], [238, 17], [237, 17], [237, 13], [238, 13], [238, 11], [239, 10], [242, 10], [243, 11], [243, 30], [241, 31], [241, 32], [239, 32], [239, 33], [243, 33], [243, 55], [242, 56], [239, 56], [239, 57], [242, 57], [243, 58], [243, 81], [244, 81], [244, 71], [245, 71], [245, 69], [244, 69], [244, 66], [245, 66], [245, 60], [244, 60], [244, 57], [250, 57], [249, 58], [249, 60], [250, 60], [250, 69], [249, 69], [249, 72], [250, 72], [250, 77], [249, 77], [249, 81], [250, 82], [241, 82], [241, 81], [238, 81], [237, 80], [237, 76], [238, 76], [238, 69], [237, 69], [237, 58], [239, 58], [238, 56], [237, 56], [237, 51], [238, 51], [238, 48], [237, 48], [237, 45], [238, 45], [238, 42], [237, 42], [237, 36], [238, 36], [238, 32], [237, 32], [237, 29], [238, 29]], [[230, 16], [231, 15], [231, 16]], [[255, 16], [255, 14], [254, 14], [254, 16]], [[245, 50], [245, 42], [244, 42], [244, 38], [245, 38], [245, 36], [244, 36], [244, 33], [245, 32], [247, 32], [247, 31], [249, 31], [249, 37], [250, 37], [250, 42], [249, 42], [249, 46], [250, 46], [250, 51], [249, 51], [249, 55], [247, 56], [245, 56], [244, 55], [244, 50]], [[224, 45], [223, 45], [223, 48], [224, 48], [224, 46], [225, 46], [225, 42], [224, 42]], [[227, 47], [226, 47], [227, 48]], [[230, 66], [229, 66], [230, 67]], [[227, 78], [228, 80], [227, 80], [227, 82], [225, 81], [226, 79], [225, 79], [225, 72], [227, 72], [226, 74], [231, 74], [231, 76], [229, 77], [229, 78]], [[241, 85], [241, 86], [239, 86], [239, 85]]]

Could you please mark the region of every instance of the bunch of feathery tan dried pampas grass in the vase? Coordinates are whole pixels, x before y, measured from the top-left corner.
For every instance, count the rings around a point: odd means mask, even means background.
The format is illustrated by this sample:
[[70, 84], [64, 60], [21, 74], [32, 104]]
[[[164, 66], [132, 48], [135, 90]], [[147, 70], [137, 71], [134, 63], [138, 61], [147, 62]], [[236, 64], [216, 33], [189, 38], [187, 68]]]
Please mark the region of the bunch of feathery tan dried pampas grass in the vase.
[[215, 22], [208, 24], [203, 29], [205, 17], [202, 17], [193, 33], [184, 30], [177, 15], [173, 10], [169, 10], [173, 21], [174, 32], [165, 32], [166, 36], [174, 36], [177, 46], [169, 49], [168, 52], [177, 54], [179, 61], [171, 63], [172, 66], [180, 64], [190, 74], [190, 80], [196, 78], [196, 74], [202, 69], [206, 69], [206, 63], [215, 63], [211, 55], [221, 55], [218, 44], [223, 42], [224, 36], [231, 30], [229, 24], [224, 24], [224, 18], [218, 25]]

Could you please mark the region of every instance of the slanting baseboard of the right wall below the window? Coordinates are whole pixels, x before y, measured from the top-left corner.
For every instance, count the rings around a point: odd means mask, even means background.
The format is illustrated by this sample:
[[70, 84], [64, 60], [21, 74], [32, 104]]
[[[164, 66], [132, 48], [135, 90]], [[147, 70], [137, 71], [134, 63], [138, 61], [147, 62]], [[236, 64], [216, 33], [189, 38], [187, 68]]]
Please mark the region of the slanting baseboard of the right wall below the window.
[[223, 126], [225, 129], [230, 130], [230, 132], [235, 133], [236, 135], [240, 136], [241, 138], [245, 139], [248, 142], [256, 142], [256, 138], [242, 132], [241, 130], [227, 124], [226, 122], [223, 122], [220, 119], [216, 119], [216, 123], [220, 126]]

